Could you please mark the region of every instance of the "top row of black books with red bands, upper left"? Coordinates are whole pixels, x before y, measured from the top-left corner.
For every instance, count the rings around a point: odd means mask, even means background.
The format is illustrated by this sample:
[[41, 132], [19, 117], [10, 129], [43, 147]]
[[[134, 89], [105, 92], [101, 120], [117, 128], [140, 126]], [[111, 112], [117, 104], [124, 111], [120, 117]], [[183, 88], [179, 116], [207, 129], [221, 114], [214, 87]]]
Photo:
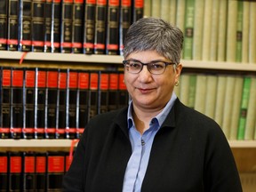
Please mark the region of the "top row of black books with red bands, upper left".
[[0, 50], [122, 54], [143, 0], [0, 0]]

